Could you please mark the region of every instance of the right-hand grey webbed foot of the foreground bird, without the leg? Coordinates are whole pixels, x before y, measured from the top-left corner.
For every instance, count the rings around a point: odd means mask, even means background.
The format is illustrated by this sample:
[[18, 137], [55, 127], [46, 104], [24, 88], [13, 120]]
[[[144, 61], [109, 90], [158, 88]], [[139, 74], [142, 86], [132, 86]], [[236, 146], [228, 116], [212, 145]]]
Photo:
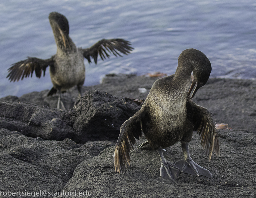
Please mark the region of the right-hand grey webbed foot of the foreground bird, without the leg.
[[189, 161], [179, 160], [174, 165], [178, 167], [182, 173], [187, 173], [195, 176], [203, 175], [205, 177], [212, 179], [212, 174], [210, 173], [210, 171], [208, 171], [202, 166], [199, 166], [192, 159]]

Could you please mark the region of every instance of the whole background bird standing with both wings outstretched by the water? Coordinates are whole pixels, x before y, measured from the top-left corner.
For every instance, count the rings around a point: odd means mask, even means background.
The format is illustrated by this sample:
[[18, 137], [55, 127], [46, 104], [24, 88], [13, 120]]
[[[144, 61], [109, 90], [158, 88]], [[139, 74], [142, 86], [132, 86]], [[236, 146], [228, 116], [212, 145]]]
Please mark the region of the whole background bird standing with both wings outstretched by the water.
[[[85, 66], [83, 59], [86, 58], [91, 62], [91, 57], [97, 64], [98, 54], [104, 60], [110, 57], [111, 52], [115, 56], [129, 54], [132, 51], [130, 42], [124, 39], [102, 39], [90, 48], [77, 48], [75, 43], [69, 37], [69, 24], [67, 18], [58, 13], [51, 12], [49, 14], [49, 22], [53, 31], [54, 39], [57, 45], [57, 53], [50, 59], [38, 59], [28, 57], [28, 59], [14, 63], [9, 69], [9, 80], [19, 81], [36, 73], [36, 77], [40, 78], [42, 71], [44, 72], [50, 66], [50, 77], [53, 84], [48, 96], [59, 92], [58, 107], [61, 101], [61, 92], [71, 87], [77, 86], [81, 95], [81, 87], [85, 79]], [[63, 108], [64, 105], [62, 103]]]

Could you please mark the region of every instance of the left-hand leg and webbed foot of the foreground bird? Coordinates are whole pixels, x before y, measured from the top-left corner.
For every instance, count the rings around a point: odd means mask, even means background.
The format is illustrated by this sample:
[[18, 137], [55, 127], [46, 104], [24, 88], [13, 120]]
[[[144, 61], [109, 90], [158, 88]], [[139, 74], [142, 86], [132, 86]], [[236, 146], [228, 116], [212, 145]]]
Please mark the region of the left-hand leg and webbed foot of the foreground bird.
[[180, 170], [171, 161], [166, 161], [163, 155], [162, 148], [157, 149], [157, 152], [161, 159], [160, 176], [163, 178], [170, 178], [176, 180]]

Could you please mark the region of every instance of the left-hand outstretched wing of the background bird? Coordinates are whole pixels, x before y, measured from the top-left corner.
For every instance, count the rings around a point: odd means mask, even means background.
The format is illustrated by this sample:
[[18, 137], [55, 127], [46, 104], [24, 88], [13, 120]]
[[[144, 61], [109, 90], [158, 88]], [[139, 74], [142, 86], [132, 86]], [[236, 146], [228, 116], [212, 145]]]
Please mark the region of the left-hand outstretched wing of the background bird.
[[23, 78], [28, 77], [31, 74], [31, 77], [33, 75], [33, 72], [35, 71], [36, 77], [40, 78], [42, 75], [42, 71], [45, 71], [48, 65], [53, 66], [54, 65], [54, 56], [52, 56], [50, 59], [38, 59], [35, 57], [28, 57], [28, 59], [16, 62], [12, 64], [12, 66], [8, 69], [8, 76], [9, 80], [12, 82], [23, 80]]

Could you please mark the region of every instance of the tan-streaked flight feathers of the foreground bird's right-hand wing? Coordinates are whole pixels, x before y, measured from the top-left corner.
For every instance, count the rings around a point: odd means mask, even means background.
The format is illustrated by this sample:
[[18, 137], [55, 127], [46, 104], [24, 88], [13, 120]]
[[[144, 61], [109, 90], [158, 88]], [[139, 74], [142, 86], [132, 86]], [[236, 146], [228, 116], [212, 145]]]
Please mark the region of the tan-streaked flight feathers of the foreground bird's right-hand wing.
[[211, 155], [214, 151], [217, 156], [220, 155], [219, 134], [213, 124], [210, 114], [208, 116], [203, 116], [197, 134], [200, 136], [201, 145], [205, 149], [205, 155], [208, 156], [209, 161], [211, 160]]

